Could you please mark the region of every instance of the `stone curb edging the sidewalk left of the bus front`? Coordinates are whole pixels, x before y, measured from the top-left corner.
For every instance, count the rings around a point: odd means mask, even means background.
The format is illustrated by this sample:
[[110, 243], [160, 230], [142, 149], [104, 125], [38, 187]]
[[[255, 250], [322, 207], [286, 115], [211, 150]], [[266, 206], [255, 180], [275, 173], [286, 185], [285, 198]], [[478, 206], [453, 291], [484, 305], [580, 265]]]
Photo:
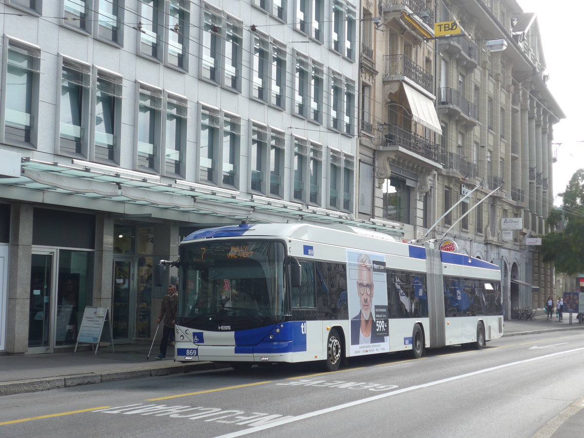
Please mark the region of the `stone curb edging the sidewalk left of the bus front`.
[[144, 377], [171, 376], [172, 374], [192, 373], [193, 371], [217, 370], [220, 366], [213, 362], [176, 364], [155, 368], [135, 368], [119, 371], [103, 371], [102, 373], [73, 374], [71, 376], [46, 377], [39, 379], [12, 380], [0, 382], [0, 397], [3, 395], [25, 394], [57, 390], [79, 385], [106, 383], [120, 380], [131, 380]]

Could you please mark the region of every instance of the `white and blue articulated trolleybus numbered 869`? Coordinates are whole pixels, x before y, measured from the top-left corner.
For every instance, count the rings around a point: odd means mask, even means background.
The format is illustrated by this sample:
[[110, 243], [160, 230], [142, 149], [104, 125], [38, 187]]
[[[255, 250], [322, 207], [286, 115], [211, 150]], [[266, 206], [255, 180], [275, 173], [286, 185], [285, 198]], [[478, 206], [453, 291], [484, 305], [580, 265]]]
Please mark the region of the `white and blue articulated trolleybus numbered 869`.
[[[180, 244], [176, 360], [322, 361], [471, 344], [503, 333], [500, 270], [339, 226], [208, 228]], [[162, 263], [171, 263], [165, 262]]]

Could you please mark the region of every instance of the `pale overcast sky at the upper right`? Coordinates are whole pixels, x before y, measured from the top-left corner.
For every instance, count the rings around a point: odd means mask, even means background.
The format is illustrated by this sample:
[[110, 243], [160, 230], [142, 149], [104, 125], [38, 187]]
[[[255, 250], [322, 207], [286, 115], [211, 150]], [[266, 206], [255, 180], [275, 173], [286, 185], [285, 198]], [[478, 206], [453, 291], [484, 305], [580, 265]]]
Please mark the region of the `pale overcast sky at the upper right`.
[[552, 151], [554, 206], [562, 203], [570, 178], [584, 168], [584, 2], [579, 0], [517, 0], [523, 12], [535, 12], [540, 28], [547, 86], [566, 118], [554, 125]]

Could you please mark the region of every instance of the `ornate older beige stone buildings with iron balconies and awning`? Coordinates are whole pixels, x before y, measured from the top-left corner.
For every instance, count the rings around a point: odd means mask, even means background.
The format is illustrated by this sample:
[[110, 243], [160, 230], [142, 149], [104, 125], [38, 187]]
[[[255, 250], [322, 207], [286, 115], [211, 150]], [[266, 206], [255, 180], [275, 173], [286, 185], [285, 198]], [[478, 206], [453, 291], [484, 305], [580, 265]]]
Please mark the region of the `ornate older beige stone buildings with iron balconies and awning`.
[[[545, 84], [536, 17], [515, 1], [361, 8], [359, 213], [497, 263], [506, 318], [540, 307], [554, 270], [527, 242], [548, 231], [564, 114]], [[435, 36], [445, 22], [460, 33]]]

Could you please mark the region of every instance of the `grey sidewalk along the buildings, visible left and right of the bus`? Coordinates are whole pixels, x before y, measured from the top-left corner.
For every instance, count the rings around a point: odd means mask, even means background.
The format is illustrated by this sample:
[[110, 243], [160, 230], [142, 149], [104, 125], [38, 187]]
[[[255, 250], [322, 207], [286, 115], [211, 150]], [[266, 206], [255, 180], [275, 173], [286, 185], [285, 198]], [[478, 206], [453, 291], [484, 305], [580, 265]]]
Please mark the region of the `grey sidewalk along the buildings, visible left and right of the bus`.
[[[569, 325], [569, 315], [565, 315], [562, 322], [558, 322], [555, 317], [552, 321], [546, 321], [545, 315], [533, 321], [505, 321], [504, 332], [505, 336], [515, 336], [570, 329], [584, 329], [584, 324], [580, 325], [576, 321], [575, 314], [572, 325]], [[100, 347], [97, 354], [86, 349], [78, 349], [77, 353], [0, 353], [0, 396], [219, 367], [210, 362], [182, 364], [172, 358], [156, 360], [156, 345], [150, 359], [147, 359], [150, 345], [119, 345], [114, 349], [115, 353], [112, 353], [111, 346]]]

